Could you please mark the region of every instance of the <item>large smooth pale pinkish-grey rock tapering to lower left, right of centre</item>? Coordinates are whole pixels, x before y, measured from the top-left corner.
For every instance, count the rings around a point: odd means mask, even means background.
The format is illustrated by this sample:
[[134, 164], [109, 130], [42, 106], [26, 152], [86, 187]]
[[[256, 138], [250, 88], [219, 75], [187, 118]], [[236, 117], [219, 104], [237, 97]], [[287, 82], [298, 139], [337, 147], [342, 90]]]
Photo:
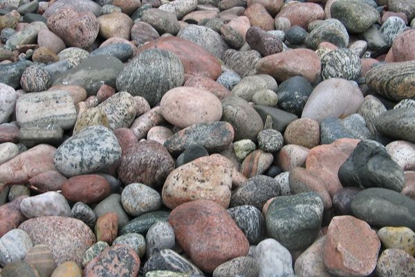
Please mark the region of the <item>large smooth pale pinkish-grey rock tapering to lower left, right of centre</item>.
[[355, 83], [331, 78], [315, 87], [304, 106], [302, 118], [311, 118], [319, 123], [328, 117], [342, 118], [356, 113], [362, 102], [362, 92]]

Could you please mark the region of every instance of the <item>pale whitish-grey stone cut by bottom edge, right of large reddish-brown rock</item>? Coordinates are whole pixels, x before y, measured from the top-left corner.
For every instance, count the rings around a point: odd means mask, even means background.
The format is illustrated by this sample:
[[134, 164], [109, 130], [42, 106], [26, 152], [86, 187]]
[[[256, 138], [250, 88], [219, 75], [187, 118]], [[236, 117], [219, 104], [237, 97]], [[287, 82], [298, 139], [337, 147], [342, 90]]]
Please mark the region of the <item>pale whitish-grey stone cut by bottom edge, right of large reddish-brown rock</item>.
[[268, 238], [259, 242], [252, 251], [252, 258], [257, 261], [259, 277], [294, 275], [291, 254], [277, 240]]

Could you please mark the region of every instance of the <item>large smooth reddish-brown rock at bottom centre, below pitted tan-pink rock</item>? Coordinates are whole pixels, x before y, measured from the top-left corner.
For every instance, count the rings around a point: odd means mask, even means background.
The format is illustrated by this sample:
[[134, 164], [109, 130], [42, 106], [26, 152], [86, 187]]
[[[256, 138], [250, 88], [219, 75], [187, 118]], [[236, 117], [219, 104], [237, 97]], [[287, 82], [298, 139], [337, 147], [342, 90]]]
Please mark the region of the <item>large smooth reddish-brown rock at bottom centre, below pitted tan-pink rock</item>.
[[169, 215], [176, 241], [194, 264], [212, 273], [232, 258], [246, 256], [249, 242], [228, 211], [216, 202], [196, 200]]

